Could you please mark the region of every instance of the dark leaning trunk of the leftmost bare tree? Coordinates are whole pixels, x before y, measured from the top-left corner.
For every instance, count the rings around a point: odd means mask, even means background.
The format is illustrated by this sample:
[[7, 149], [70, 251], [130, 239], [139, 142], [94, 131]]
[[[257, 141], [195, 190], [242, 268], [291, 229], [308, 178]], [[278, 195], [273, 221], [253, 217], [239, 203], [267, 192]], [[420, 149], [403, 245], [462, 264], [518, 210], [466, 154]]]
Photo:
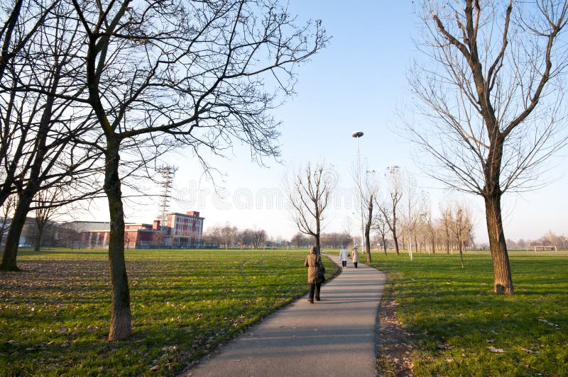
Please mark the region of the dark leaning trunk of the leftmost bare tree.
[[30, 210], [32, 198], [33, 193], [29, 193], [28, 190], [24, 190], [18, 198], [18, 205], [16, 210], [14, 210], [8, 235], [6, 235], [6, 242], [4, 243], [4, 255], [2, 255], [2, 263], [0, 264], [0, 270], [2, 271], [20, 270], [16, 264], [18, 244], [20, 243], [20, 235], [23, 225], [26, 223], [26, 215]]

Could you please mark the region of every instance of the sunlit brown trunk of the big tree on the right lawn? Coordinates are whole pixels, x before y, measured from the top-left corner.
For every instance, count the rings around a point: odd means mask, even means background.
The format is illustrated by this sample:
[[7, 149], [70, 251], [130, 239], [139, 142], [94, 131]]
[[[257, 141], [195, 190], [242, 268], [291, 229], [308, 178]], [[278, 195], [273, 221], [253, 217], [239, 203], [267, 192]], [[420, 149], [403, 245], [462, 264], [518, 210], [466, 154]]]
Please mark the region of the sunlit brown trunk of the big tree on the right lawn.
[[510, 274], [507, 243], [501, 218], [501, 193], [486, 195], [485, 213], [491, 259], [493, 259], [493, 292], [512, 295], [513, 278]]

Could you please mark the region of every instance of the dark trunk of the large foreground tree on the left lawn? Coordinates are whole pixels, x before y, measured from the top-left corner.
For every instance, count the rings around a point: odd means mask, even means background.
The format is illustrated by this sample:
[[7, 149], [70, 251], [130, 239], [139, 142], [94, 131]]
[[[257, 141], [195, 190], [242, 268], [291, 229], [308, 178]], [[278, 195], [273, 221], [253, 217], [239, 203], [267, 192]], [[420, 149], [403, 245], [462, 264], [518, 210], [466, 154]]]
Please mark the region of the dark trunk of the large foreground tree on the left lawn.
[[132, 331], [129, 281], [124, 261], [124, 208], [119, 177], [119, 146], [119, 140], [107, 135], [104, 192], [109, 201], [111, 222], [109, 266], [112, 283], [109, 341], [126, 339]]

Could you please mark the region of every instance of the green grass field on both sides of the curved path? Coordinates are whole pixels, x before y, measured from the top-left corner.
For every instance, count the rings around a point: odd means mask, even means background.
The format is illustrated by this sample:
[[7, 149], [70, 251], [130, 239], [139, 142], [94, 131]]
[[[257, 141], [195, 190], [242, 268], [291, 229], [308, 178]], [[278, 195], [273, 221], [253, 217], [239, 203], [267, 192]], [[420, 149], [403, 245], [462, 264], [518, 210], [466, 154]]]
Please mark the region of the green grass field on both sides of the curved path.
[[[23, 271], [0, 272], [0, 376], [173, 376], [305, 293], [306, 253], [129, 250], [133, 336], [107, 342], [107, 252], [20, 252]], [[488, 252], [464, 269], [414, 257], [376, 252], [373, 266], [393, 282], [417, 376], [568, 375], [567, 252], [511, 252], [514, 296], [492, 293]]]

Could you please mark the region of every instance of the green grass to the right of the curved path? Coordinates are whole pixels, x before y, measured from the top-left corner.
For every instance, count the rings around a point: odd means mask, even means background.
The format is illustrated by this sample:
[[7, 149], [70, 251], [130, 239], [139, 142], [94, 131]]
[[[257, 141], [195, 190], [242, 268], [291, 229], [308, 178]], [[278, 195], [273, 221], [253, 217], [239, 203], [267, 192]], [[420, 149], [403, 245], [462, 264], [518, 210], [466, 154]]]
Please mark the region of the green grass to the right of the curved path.
[[566, 252], [511, 252], [513, 296], [493, 294], [488, 252], [468, 252], [464, 269], [458, 255], [373, 254], [393, 280], [417, 376], [568, 375]]

